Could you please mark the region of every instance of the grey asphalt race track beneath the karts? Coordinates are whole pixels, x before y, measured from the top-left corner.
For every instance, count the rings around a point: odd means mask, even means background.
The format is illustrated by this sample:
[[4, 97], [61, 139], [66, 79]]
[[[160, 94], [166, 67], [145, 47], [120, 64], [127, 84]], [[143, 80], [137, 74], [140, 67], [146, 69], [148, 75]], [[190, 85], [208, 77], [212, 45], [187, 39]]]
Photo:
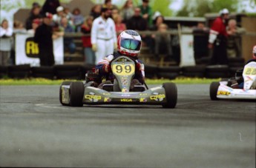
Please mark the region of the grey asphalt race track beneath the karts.
[[177, 87], [163, 109], [62, 107], [59, 86], [0, 86], [0, 167], [255, 167], [255, 101]]

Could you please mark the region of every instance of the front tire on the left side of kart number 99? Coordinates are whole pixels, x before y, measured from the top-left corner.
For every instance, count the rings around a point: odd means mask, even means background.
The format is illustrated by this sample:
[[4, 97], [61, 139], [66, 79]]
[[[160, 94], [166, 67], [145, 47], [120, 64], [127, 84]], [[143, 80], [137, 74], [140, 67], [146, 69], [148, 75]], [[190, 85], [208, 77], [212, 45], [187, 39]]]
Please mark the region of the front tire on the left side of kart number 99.
[[85, 86], [82, 81], [73, 81], [70, 84], [70, 101], [72, 107], [82, 107], [82, 97], [84, 96]]

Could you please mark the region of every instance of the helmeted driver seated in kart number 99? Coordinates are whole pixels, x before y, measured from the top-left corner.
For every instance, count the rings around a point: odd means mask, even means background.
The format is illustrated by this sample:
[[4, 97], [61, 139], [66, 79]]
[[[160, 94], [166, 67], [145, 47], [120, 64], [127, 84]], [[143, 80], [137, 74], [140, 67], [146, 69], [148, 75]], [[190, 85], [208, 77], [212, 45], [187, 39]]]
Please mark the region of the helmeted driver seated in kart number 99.
[[140, 34], [134, 30], [125, 30], [117, 38], [117, 52], [111, 55], [105, 56], [102, 60], [96, 64], [95, 73], [100, 76], [105, 76], [106, 81], [99, 84], [99, 88], [102, 88], [103, 84], [112, 84], [114, 81], [114, 75], [111, 73], [110, 62], [119, 56], [128, 56], [136, 61], [134, 79], [131, 81], [131, 90], [134, 85], [142, 85], [145, 80], [144, 64], [139, 60], [138, 55], [142, 46], [142, 39]]

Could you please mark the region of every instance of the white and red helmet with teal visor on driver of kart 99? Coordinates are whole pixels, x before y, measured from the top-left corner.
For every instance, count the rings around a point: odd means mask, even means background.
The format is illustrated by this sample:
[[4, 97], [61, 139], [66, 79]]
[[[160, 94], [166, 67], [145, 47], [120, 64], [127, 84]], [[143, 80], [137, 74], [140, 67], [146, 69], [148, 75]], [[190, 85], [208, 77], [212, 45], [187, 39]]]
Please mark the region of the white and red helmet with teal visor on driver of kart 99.
[[117, 38], [117, 50], [125, 56], [136, 57], [141, 49], [140, 34], [134, 30], [125, 30]]

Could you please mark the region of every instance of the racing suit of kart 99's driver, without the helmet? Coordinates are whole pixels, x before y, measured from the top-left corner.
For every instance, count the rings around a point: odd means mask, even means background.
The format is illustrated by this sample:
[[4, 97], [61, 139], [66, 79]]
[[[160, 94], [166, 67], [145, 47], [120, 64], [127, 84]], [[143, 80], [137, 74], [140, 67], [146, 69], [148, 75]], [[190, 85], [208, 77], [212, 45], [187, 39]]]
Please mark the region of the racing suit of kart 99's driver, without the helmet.
[[[122, 55], [118, 52], [114, 52], [113, 54], [106, 56], [105, 58], [100, 60], [98, 64], [96, 64], [95, 72], [99, 73], [100, 76], [105, 76], [106, 80], [113, 82], [114, 75], [113, 73], [111, 73], [110, 62], [114, 58], [117, 58], [119, 56], [122, 56]], [[137, 57], [133, 57], [133, 59], [137, 62], [137, 64], [135, 65], [136, 67], [135, 67], [134, 79], [137, 79], [140, 82], [140, 84], [144, 84], [144, 80], [145, 80], [144, 64]]]

